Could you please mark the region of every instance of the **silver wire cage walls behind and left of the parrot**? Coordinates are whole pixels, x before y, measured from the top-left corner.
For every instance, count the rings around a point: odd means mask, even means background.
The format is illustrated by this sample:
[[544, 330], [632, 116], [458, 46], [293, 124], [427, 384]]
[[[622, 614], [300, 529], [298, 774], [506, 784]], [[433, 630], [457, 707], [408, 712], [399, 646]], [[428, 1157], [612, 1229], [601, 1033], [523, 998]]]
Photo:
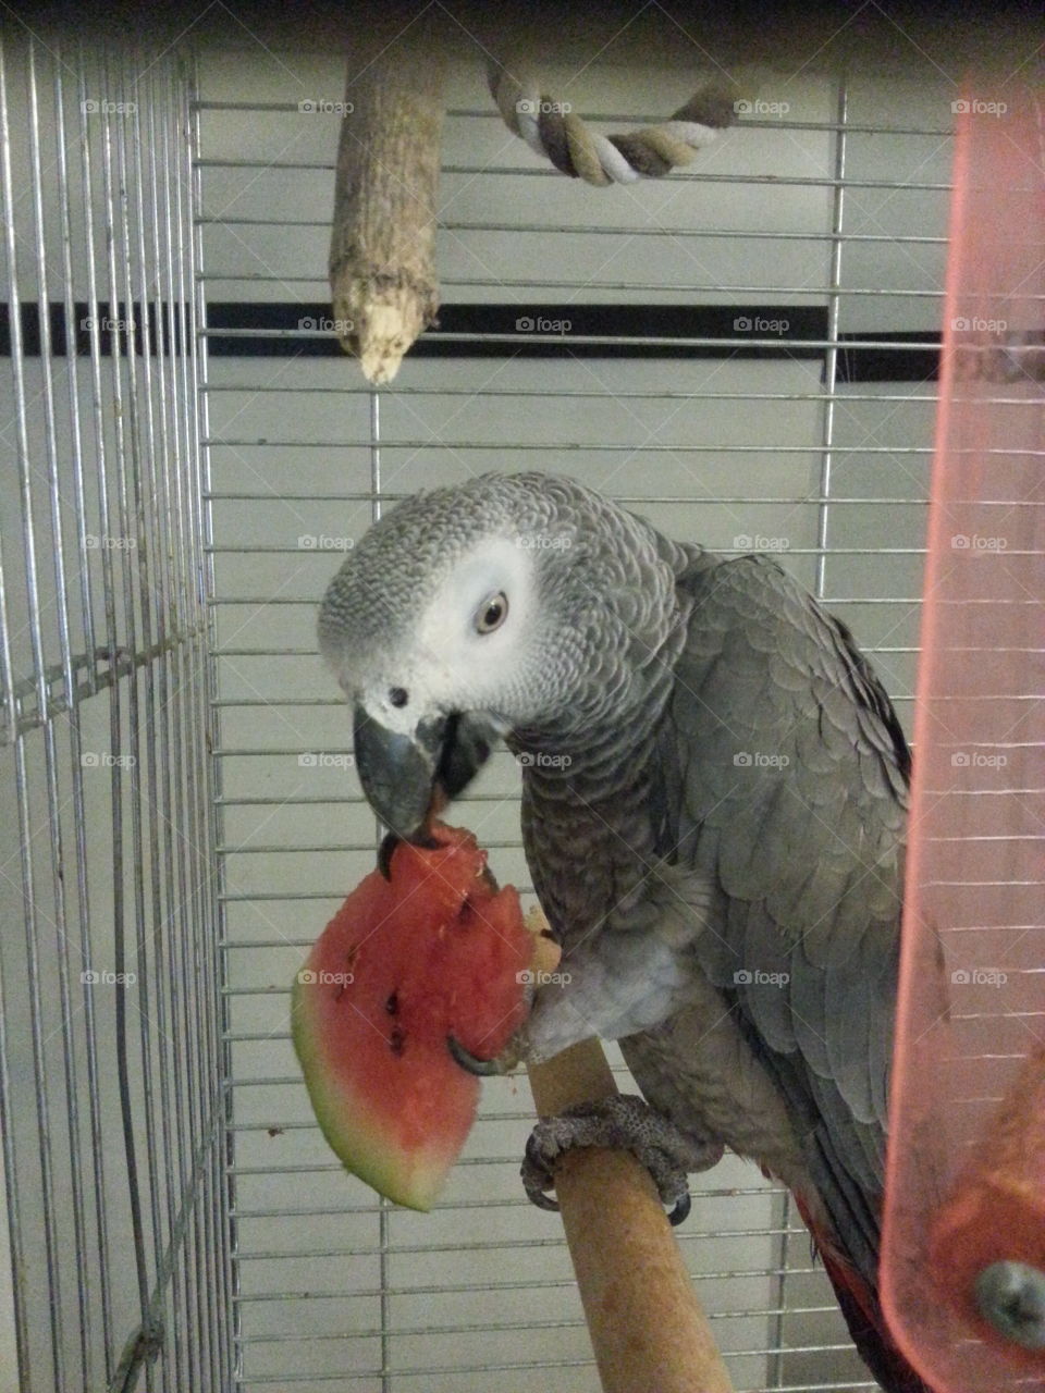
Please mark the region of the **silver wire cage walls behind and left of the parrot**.
[[[337, 56], [300, 70], [262, 99], [249, 74], [201, 70], [185, 53], [8, 42], [0, 54], [0, 440], [13, 461], [0, 482], [0, 779], [14, 809], [0, 833], [0, 1261], [14, 1275], [8, 1297], [0, 1280], [0, 1373], [7, 1348], [26, 1393], [595, 1389], [560, 1233], [518, 1192], [524, 1087], [490, 1085], [426, 1229], [347, 1181], [308, 1112], [286, 983], [372, 865], [376, 830], [315, 662], [315, 602], [330, 550], [418, 482], [506, 460], [598, 485], [642, 456], [652, 482], [640, 469], [606, 486], [670, 529], [695, 506], [676, 468], [686, 456], [706, 471], [701, 540], [729, 550], [751, 540], [736, 535], [741, 521], [761, 534], [790, 518], [787, 564], [857, 630], [906, 720], [938, 348], [913, 327], [935, 329], [942, 297], [949, 111], [881, 123], [867, 88], [854, 116], [851, 85], [823, 79], [810, 118], [745, 120], [747, 139], [775, 132], [777, 153], [816, 142], [816, 167], [738, 173], [708, 155], [676, 177], [738, 199], [772, 187], [815, 202], [815, 226], [811, 215], [808, 227], [737, 230], [705, 206], [706, 224], [665, 230], [637, 213], [628, 223], [631, 205], [612, 192], [602, 221], [588, 203], [562, 213], [567, 181], [511, 143], [478, 82], [461, 86], [440, 234], [449, 308], [429, 336], [439, 351], [378, 393], [312, 308], [325, 302], [337, 125], [305, 130], [298, 103], [318, 95], [305, 81], [337, 99], [343, 71]], [[272, 148], [248, 153], [255, 125]], [[853, 169], [854, 141], [918, 153], [896, 170], [874, 155]], [[255, 185], [277, 187], [266, 180], [301, 180], [308, 198], [284, 216], [266, 194], [252, 208]], [[465, 192], [454, 212], [454, 180], [495, 203], [525, 185], [550, 213], [516, 199], [477, 217]], [[883, 212], [861, 223], [851, 191]], [[641, 251], [601, 277], [566, 256], [548, 280], [527, 251], [534, 233], [566, 248], [613, 231]], [[490, 273], [504, 262], [483, 238], [503, 238], [522, 272]], [[658, 280], [655, 256], [686, 238], [708, 266], [743, 244], [747, 276]], [[805, 280], [793, 245], [815, 267]], [[783, 269], [761, 284], [751, 266], [777, 254]], [[876, 256], [881, 279], [867, 272]], [[531, 309], [566, 297], [578, 319], [585, 295], [640, 309], [688, 297], [695, 329], [594, 323], [568, 352], [549, 340], [548, 364], [521, 351], [510, 322], [456, 318], [468, 295]], [[298, 297], [311, 312], [298, 305], [294, 323], [283, 311]], [[722, 301], [812, 305], [821, 318], [782, 347], [701, 318]], [[230, 313], [248, 302], [251, 315]], [[585, 358], [607, 348], [609, 364]], [[651, 350], [676, 369], [691, 354], [692, 383], [665, 387]], [[499, 355], [478, 386], [454, 376], [453, 354], [468, 351]], [[899, 386], [888, 368], [861, 380], [849, 371], [861, 354], [914, 366]], [[470, 419], [477, 398], [486, 415]], [[630, 415], [606, 423], [617, 407]], [[648, 418], [667, 412], [683, 412], [687, 440], [651, 443]], [[779, 432], [784, 412], [791, 433]], [[804, 485], [782, 472], [791, 465]], [[525, 886], [516, 794], [517, 770], [499, 756], [460, 820]], [[695, 1178], [683, 1243], [737, 1389], [872, 1387], [787, 1198], [723, 1165]]]

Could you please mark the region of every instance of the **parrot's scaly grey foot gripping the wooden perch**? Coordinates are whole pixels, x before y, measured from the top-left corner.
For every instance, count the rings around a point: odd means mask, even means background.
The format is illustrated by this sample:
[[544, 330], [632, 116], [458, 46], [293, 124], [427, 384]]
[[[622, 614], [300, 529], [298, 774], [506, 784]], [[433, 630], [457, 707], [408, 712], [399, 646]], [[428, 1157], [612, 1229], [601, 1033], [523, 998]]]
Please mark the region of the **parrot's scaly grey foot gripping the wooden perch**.
[[556, 1117], [542, 1117], [529, 1134], [521, 1176], [538, 1209], [559, 1208], [548, 1191], [555, 1188], [556, 1162], [574, 1146], [630, 1151], [653, 1177], [672, 1224], [680, 1224], [690, 1212], [687, 1173], [716, 1166], [725, 1149], [719, 1142], [684, 1133], [628, 1094], [575, 1103]]

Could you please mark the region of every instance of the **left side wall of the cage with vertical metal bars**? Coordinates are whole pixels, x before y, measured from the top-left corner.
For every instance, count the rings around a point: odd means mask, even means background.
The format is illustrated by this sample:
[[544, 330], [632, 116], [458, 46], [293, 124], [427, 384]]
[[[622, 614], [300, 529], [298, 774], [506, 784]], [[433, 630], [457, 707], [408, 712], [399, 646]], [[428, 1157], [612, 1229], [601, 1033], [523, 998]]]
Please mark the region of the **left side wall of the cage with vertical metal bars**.
[[0, 900], [25, 924], [0, 944], [0, 1127], [24, 1393], [231, 1379], [191, 91], [178, 54], [0, 46]]

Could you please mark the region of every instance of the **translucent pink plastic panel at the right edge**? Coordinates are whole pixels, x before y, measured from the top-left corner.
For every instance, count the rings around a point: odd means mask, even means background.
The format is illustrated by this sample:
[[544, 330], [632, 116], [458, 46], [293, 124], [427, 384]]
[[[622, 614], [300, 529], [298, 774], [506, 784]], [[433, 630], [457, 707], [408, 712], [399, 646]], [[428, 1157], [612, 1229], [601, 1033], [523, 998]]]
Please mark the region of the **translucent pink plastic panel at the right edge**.
[[882, 1283], [939, 1393], [1028, 1393], [1045, 1354], [995, 1336], [971, 1280], [1045, 1266], [1045, 132], [1027, 88], [964, 106]]

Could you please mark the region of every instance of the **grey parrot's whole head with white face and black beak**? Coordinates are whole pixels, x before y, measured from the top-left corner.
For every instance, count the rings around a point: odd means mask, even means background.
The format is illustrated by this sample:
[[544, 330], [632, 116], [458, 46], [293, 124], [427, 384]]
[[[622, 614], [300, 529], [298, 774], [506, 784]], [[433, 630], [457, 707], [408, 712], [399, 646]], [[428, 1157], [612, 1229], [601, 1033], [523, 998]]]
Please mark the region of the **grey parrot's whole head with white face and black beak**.
[[425, 841], [497, 737], [568, 738], [620, 698], [606, 667], [640, 641], [648, 549], [641, 520], [543, 474], [414, 495], [371, 527], [326, 591], [319, 648], [396, 836]]

